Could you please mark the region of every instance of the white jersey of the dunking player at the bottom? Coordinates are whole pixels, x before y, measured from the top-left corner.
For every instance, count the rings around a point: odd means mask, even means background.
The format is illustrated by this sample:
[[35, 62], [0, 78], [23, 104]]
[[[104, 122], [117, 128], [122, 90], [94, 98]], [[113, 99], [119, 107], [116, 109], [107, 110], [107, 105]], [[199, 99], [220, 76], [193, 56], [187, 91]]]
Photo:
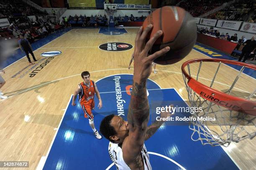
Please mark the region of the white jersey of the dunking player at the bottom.
[[[118, 146], [118, 144], [109, 142], [108, 145], [108, 153], [110, 155], [111, 160], [115, 163], [117, 170], [131, 170], [130, 167], [123, 160], [123, 152], [122, 148]], [[144, 170], [152, 170], [152, 167], [149, 162], [149, 155], [146, 149], [145, 144], [143, 145], [143, 149], [141, 150], [141, 155], [144, 163]]]

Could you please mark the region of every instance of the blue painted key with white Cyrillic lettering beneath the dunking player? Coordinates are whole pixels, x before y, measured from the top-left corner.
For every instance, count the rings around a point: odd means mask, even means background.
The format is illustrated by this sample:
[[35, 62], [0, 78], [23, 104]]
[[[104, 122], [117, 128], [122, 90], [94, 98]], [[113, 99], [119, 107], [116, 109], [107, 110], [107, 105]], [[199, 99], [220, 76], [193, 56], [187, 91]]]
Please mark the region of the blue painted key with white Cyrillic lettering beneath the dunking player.
[[[120, 103], [116, 99], [116, 89], [120, 89], [123, 100], [123, 114], [126, 119], [130, 102], [133, 80], [131, 74], [112, 75], [97, 81], [103, 107], [95, 107], [95, 126], [99, 129], [100, 121], [109, 114], [118, 114]], [[119, 86], [120, 85], [120, 86]], [[148, 80], [148, 101], [150, 114], [155, 112], [159, 101], [176, 101], [185, 106], [185, 102], [175, 89], [161, 89], [154, 81]], [[88, 120], [84, 118], [78, 101], [72, 107], [69, 101], [67, 110], [50, 148], [44, 170], [114, 170], [108, 155], [108, 140], [97, 140], [92, 133]], [[98, 100], [95, 98], [95, 106]], [[121, 108], [122, 109], [122, 108]], [[151, 124], [151, 120], [149, 121]], [[167, 124], [145, 142], [150, 153], [150, 162], [154, 170], [237, 170], [238, 167], [221, 147], [203, 146], [201, 142], [190, 139], [192, 131], [188, 125], [172, 126]]]

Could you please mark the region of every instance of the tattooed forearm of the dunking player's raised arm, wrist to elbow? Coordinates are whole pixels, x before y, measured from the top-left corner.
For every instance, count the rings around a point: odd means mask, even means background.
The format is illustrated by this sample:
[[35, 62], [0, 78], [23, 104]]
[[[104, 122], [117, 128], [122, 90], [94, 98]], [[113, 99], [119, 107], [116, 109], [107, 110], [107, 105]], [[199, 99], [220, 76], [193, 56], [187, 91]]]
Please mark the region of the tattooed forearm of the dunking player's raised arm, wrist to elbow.
[[[146, 92], [146, 80], [133, 79], [133, 90], [131, 92], [131, 102], [128, 110], [128, 122], [134, 126], [147, 124], [149, 117], [149, 105]], [[144, 124], [143, 124], [144, 123]]]

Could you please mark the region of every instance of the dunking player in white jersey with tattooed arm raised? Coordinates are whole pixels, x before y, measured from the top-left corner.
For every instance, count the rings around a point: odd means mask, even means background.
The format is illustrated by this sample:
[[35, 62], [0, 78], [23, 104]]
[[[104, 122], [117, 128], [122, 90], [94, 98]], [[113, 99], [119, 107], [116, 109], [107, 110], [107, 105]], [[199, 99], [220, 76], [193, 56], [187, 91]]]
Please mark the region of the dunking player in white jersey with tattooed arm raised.
[[[157, 38], [162, 35], [159, 30], [146, 42], [146, 37], [153, 25], [145, 30], [141, 27], [137, 33], [134, 50], [134, 75], [131, 102], [127, 121], [114, 114], [105, 117], [100, 124], [100, 132], [109, 142], [108, 152], [118, 170], [151, 170], [149, 156], [144, 141], [151, 137], [163, 122], [157, 121], [147, 127], [149, 105], [146, 92], [146, 81], [152, 71], [154, 59], [170, 50], [169, 47], [148, 56], [148, 51]], [[169, 112], [161, 117], [170, 116]]]

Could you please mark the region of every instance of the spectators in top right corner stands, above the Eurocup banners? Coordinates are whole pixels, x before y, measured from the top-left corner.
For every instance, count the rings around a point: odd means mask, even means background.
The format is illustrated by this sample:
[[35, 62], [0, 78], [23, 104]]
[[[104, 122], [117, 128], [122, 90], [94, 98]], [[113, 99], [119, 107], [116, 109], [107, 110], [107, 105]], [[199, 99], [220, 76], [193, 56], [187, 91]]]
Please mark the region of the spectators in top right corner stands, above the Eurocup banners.
[[[252, 18], [248, 14], [254, 12]], [[218, 20], [238, 20], [253, 23], [256, 20], [256, 0], [242, 0], [227, 6], [223, 10], [210, 14], [207, 18]], [[248, 18], [248, 20], [247, 20]]]

